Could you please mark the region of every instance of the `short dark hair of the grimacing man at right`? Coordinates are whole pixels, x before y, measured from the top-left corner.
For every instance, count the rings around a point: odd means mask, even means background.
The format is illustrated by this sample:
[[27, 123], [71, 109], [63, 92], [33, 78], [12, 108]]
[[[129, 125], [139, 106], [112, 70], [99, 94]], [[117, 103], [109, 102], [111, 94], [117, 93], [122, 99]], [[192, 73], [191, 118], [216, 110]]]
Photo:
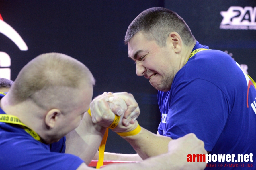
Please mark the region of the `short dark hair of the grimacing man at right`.
[[124, 42], [127, 44], [134, 35], [142, 31], [148, 40], [155, 40], [159, 46], [166, 45], [169, 33], [175, 31], [190, 46], [196, 41], [186, 22], [172, 10], [154, 7], [141, 12], [129, 25]]

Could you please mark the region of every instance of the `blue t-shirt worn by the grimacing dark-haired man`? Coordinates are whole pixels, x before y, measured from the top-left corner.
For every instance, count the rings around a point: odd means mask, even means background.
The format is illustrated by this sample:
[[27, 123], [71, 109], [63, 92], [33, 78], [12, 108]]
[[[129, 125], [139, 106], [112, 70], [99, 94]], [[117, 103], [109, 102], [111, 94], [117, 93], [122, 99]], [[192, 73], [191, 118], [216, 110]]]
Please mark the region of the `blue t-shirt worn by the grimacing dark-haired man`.
[[[198, 48], [208, 46], [196, 42], [193, 50]], [[251, 84], [228, 54], [219, 50], [196, 53], [177, 72], [171, 90], [158, 91], [159, 134], [177, 139], [195, 133], [209, 154], [237, 158], [237, 154], [252, 153], [255, 168], [256, 90]]]

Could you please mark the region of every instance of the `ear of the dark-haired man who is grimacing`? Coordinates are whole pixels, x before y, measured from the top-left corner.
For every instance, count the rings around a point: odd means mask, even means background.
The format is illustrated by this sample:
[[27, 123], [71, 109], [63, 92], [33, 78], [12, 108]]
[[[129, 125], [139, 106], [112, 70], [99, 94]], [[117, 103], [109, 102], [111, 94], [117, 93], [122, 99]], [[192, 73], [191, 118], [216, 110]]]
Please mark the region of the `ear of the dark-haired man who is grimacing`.
[[171, 45], [174, 52], [181, 52], [182, 48], [182, 39], [181, 36], [177, 32], [171, 32], [167, 38], [167, 43]]

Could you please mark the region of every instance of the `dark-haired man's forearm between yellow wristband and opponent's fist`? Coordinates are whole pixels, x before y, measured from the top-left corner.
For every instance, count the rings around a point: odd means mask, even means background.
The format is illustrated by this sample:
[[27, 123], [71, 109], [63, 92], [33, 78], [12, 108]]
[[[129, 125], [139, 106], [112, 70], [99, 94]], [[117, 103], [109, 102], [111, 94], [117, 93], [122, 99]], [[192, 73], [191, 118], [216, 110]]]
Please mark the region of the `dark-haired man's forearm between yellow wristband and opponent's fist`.
[[168, 143], [172, 140], [170, 137], [156, 135], [144, 128], [141, 128], [137, 135], [123, 138], [132, 145], [143, 160], [166, 153]]

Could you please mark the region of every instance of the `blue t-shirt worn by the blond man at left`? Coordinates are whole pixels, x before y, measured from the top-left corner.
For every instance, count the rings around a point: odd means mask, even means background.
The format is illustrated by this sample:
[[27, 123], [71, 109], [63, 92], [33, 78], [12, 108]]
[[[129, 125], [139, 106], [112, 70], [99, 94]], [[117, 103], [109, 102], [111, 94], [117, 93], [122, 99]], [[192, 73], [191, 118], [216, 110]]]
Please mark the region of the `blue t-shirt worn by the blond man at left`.
[[[1, 108], [0, 114], [5, 114]], [[15, 124], [0, 122], [0, 169], [70, 170], [77, 169], [84, 162], [79, 157], [64, 152], [65, 137], [47, 145], [35, 140]]]

